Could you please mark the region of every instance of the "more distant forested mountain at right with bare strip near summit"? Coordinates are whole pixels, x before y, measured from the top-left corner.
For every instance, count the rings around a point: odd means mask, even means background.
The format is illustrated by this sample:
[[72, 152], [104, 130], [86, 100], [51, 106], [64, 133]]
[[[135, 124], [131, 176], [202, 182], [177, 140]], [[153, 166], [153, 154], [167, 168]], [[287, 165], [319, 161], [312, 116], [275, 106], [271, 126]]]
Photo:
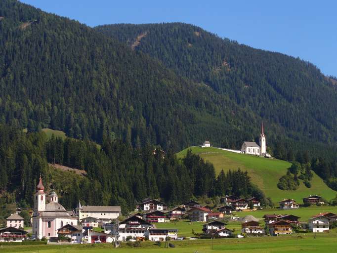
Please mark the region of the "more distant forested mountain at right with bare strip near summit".
[[[324, 155], [327, 144], [335, 148], [336, 86], [309, 62], [222, 39], [189, 24], [117, 24], [95, 29], [253, 111], [268, 123], [268, 141], [274, 149], [285, 136], [295, 140], [290, 145], [293, 149], [308, 149], [311, 155]], [[324, 143], [324, 152], [318, 142]]]

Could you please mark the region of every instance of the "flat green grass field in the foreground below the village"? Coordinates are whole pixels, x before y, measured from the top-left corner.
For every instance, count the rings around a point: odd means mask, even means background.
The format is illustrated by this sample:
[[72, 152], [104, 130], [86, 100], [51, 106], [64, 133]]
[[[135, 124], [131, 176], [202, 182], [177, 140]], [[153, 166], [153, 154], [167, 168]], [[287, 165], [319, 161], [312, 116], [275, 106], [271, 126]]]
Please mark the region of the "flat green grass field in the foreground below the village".
[[190, 240], [172, 242], [175, 248], [165, 249], [153, 242], [142, 242], [139, 248], [123, 245], [115, 249], [106, 245], [41, 245], [41, 246], [3, 246], [2, 253], [331, 253], [336, 252], [337, 237], [331, 234], [319, 234], [313, 239], [312, 234], [280, 237], [259, 237], [242, 239]]

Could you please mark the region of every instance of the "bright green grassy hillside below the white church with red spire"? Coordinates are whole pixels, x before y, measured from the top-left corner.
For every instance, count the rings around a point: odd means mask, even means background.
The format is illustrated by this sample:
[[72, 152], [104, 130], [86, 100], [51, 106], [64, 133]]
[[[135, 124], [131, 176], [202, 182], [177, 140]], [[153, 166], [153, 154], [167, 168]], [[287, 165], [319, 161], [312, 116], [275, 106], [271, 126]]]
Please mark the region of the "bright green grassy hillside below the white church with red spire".
[[[267, 197], [270, 197], [273, 202], [278, 202], [283, 198], [292, 198], [297, 202], [302, 203], [302, 198], [310, 194], [317, 194], [323, 198], [330, 200], [337, 194], [336, 191], [330, 189], [323, 180], [314, 174], [311, 181], [311, 188], [307, 188], [302, 182], [296, 191], [283, 191], [277, 188], [279, 178], [287, 173], [287, 169], [291, 166], [286, 161], [277, 159], [267, 159], [255, 157], [246, 154], [237, 154], [218, 148], [201, 148], [199, 146], [191, 147], [192, 152], [199, 154], [202, 158], [210, 161], [216, 172], [221, 169], [227, 171], [229, 169], [247, 170], [252, 177], [252, 181], [256, 184]], [[187, 149], [177, 153], [177, 156], [182, 158], [186, 155]]]

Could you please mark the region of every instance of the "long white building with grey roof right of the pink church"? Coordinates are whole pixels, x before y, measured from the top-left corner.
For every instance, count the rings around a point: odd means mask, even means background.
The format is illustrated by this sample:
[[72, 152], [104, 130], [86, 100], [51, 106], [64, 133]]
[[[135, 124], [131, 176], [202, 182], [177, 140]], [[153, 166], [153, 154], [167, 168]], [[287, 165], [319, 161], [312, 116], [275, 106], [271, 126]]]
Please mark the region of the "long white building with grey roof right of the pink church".
[[117, 219], [121, 214], [120, 206], [82, 206], [80, 201], [76, 208], [76, 214], [79, 220], [86, 217], [97, 218], [102, 223], [109, 223]]

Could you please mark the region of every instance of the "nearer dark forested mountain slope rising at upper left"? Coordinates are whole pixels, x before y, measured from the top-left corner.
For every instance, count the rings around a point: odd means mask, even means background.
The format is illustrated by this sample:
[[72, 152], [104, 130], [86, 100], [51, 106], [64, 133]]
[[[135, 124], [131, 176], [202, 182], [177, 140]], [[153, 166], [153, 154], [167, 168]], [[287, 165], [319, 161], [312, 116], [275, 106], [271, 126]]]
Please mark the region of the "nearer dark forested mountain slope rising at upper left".
[[16, 0], [0, 1], [0, 16], [0, 123], [178, 151], [205, 138], [239, 139], [253, 129], [244, 119], [260, 121], [76, 21]]

